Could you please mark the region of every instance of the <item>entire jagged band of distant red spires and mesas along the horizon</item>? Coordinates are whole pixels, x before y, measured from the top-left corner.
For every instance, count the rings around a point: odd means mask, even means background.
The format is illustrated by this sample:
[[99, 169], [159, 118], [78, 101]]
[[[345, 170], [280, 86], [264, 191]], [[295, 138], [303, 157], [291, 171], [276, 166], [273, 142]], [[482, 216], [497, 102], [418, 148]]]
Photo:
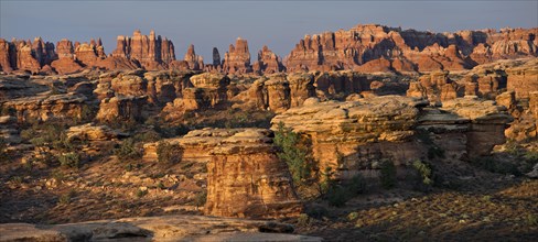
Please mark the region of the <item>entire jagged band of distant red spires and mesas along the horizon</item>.
[[117, 47], [106, 55], [100, 38], [89, 43], [62, 40], [56, 44], [0, 38], [0, 70], [3, 73], [69, 74], [87, 68], [105, 70], [191, 69], [225, 74], [263, 75], [294, 72], [355, 70], [361, 73], [429, 73], [464, 70], [498, 59], [538, 56], [538, 28], [459, 31], [432, 33], [401, 30], [379, 24], [358, 24], [305, 35], [286, 58], [263, 46], [250, 63], [247, 40], [238, 37], [220, 59], [213, 48], [211, 64], [189, 47], [183, 61], [176, 61], [174, 45], [166, 37], [142, 35], [118, 36]]

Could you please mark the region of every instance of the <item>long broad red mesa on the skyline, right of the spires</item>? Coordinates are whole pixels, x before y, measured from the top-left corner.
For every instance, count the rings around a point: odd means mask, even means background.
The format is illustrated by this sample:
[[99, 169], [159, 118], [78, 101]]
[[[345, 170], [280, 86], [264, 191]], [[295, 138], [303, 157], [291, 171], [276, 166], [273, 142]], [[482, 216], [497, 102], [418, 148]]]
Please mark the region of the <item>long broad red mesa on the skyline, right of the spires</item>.
[[[499, 58], [537, 56], [537, 30], [434, 34], [375, 24], [357, 25], [348, 31], [306, 35], [284, 63], [289, 72], [462, 70]], [[383, 62], [381, 57], [392, 64]], [[374, 59], [377, 61], [370, 63]]]

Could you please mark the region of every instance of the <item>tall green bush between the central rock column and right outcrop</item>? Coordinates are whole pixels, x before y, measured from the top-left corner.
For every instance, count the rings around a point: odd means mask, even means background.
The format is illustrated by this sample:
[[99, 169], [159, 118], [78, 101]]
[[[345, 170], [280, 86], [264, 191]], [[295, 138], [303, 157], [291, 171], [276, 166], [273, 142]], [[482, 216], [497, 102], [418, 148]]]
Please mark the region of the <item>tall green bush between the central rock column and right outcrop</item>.
[[309, 151], [301, 144], [301, 135], [283, 123], [278, 124], [275, 133], [275, 144], [279, 147], [278, 156], [288, 164], [295, 184], [302, 184], [311, 176], [311, 164], [308, 161]]

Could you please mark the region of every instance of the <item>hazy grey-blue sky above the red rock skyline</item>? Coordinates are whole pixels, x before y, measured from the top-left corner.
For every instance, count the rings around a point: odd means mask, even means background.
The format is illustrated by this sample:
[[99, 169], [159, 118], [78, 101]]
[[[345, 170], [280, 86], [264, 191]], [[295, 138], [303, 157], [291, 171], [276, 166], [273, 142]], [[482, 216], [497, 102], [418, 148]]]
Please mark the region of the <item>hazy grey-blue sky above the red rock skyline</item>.
[[154, 30], [172, 40], [183, 59], [189, 44], [211, 63], [240, 36], [248, 40], [251, 59], [268, 45], [284, 57], [305, 34], [348, 30], [378, 23], [433, 32], [537, 28], [538, 0], [527, 1], [226, 1], [226, 0], [0, 0], [0, 37], [56, 43], [101, 37], [105, 52], [116, 48], [117, 35]]

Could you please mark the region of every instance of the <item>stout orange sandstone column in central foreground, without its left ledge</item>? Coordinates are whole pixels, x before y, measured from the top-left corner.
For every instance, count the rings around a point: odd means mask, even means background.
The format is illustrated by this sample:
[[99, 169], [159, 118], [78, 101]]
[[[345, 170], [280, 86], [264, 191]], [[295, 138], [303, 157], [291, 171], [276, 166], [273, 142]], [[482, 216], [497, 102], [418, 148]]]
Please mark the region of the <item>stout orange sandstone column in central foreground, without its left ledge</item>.
[[301, 212], [288, 167], [275, 153], [269, 134], [263, 129], [246, 129], [212, 151], [206, 215], [278, 218]]

